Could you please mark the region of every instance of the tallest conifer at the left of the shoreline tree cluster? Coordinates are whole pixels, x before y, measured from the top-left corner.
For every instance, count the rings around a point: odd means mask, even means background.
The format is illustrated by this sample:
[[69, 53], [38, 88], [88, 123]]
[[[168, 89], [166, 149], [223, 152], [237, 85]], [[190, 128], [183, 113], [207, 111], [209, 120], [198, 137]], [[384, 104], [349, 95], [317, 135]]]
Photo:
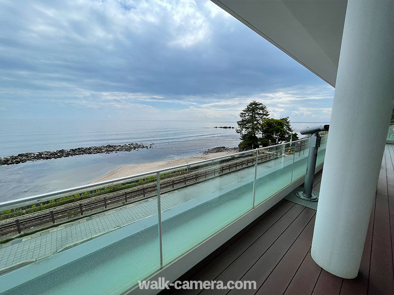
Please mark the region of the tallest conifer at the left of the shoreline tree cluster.
[[241, 119], [237, 121], [238, 128], [236, 132], [240, 134], [240, 148], [257, 148], [258, 136], [261, 134], [261, 124], [264, 118], [268, 118], [268, 109], [263, 103], [252, 101], [239, 114]]

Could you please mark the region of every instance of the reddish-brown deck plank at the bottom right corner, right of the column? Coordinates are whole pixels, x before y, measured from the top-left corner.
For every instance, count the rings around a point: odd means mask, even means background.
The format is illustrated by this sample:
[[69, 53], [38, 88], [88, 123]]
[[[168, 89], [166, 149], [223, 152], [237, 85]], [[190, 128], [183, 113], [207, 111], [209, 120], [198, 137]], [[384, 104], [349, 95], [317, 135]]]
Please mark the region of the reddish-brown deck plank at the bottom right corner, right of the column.
[[386, 163], [382, 162], [376, 192], [368, 294], [394, 294]]

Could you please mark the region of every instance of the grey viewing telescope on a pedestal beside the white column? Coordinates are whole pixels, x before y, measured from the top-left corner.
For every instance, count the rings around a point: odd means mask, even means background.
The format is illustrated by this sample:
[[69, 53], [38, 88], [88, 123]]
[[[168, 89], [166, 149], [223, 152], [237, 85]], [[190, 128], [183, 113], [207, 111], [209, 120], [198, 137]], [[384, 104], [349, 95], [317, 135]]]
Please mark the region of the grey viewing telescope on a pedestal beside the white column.
[[312, 192], [313, 178], [315, 177], [317, 150], [320, 147], [320, 131], [328, 131], [329, 125], [320, 125], [314, 127], [306, 127], [302, 129], [300, 133], [302, 135], [311, 134], [310, 144], [309, 144], [309, 154], [308, 154], [308, 164], [306, 166], [306, 175], [304, 190], [302, 192], [297, 192], [298, 198], [307, 201], [317, 201], [319, 199], [319, 194]]

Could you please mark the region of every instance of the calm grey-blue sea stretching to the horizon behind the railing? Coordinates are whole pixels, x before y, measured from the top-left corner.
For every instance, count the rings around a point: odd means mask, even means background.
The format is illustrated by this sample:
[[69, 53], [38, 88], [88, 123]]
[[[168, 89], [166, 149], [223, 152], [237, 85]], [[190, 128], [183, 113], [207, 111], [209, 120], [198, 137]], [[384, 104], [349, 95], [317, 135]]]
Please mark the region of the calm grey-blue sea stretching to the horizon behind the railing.
[[[293, 122], [295, 132], [325, 122]], [[91, 146], [138, 143], [153, 148], [78, 155], [0, 166], [0, 203], [87, 184], [130, 164], [200, 155], [214, 147], [237, 147], [235, 121], [0, 119], [0, 157]]]

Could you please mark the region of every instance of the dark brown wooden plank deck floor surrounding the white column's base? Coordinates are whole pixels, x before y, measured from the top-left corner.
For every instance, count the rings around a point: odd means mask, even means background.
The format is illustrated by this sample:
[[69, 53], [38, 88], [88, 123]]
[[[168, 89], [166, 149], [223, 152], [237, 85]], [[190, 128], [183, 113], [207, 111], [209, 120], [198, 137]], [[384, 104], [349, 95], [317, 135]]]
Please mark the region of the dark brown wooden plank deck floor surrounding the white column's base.
[[[348, 280], [310, 256], [316, 211], [282, 201], [181, 280], [255, 280], [257, 290], [173, 294], [394, 294], [394, 145], [386, 145], [359, 276]], [[315, 189], [320, 182], [317, 181]], [[168, 293], [168, 292], [167, 292]]]

